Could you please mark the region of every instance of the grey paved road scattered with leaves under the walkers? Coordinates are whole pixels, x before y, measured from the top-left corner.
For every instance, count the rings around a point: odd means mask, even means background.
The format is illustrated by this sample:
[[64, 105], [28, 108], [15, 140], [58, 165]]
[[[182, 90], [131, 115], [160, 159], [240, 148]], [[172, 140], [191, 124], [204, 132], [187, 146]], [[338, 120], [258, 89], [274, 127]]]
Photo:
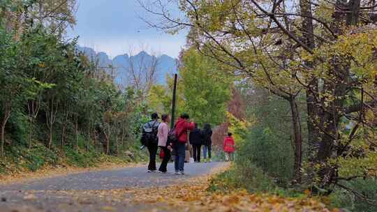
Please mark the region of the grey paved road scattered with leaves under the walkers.
[[[147, 173], [146, 167], [131, 167], [0, 185], [0, 211], [104, 211], [103, 206], [109, 204], [117, 211], [142, 211], [145, 206], [119, 204], [112, 202], [112, 199], [98, 199], [90, 195], [90, 192], [170, 185], [209, 174], [212, 169], [221, 165], [221, 162], [186, 163], [184, 176], [172, 172]], [[168, 165], [168, 170], [174, 170], [172, 164]], [[74, 196], [72, 191], [82, 195]]]

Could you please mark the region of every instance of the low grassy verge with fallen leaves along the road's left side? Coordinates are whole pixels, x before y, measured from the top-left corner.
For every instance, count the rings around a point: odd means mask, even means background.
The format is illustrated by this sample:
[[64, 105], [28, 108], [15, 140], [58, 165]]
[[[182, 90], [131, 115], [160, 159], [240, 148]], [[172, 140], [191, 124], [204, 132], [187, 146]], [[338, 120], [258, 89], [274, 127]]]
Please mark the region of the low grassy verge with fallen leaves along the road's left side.
[[[94, 149], [47, 149], [36, 144], [33, 149], [15, 146], [5, 160], [0, 160], [0, 184], [20, 183], [34, 179], [80, 172], [118, 169], [143, 165], [146, 154], [128, 151], [124, 156], [107, 156]], [[132, 154], [132, 156], [128, 156]]]

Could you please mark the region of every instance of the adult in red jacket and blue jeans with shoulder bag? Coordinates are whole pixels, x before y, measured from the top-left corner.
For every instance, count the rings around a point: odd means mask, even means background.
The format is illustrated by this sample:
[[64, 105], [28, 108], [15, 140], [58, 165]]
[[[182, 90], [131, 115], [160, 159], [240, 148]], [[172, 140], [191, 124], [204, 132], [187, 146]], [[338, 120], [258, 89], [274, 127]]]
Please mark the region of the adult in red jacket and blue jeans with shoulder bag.
[[184, 158], [186, 157], [186, 143], [188, 142], [188, 130], [193, 130], [194, 123], [189, 122], [188, 114], [182, 114], [175, 123], [175, 133], [177, 143], [174, 144], [175, 150], [175, 174], [184, 174]]

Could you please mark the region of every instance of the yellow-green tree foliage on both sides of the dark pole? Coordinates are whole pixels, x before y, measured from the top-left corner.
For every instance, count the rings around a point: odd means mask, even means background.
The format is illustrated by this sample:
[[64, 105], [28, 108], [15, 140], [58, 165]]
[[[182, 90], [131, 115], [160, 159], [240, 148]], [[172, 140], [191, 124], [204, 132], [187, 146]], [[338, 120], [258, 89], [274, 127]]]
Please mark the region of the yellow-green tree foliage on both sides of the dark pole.
[[[187, 112], [200, 126], [223, 123], [230, 100], [233, 77], [226, 74], [217, 61], [194, 50], [185, 50], [177, 82], [176, 114]], [[148, 95], [151, 109], [171, 114], [174, 78], [168, 76], [166, 86], [153, 86]]]

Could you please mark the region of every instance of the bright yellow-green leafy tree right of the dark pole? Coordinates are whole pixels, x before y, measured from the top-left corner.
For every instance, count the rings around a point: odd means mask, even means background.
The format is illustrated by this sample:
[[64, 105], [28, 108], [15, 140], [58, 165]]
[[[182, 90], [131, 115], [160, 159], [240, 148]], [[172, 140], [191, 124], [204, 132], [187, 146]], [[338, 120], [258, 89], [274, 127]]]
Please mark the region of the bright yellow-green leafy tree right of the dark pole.
[[184, 111], [203, 125], [223, 123], [226, 118], [233, 79], [219, 63], [203, 56], [193, 48], [186, 50], [179, 70], [184, 97]]

